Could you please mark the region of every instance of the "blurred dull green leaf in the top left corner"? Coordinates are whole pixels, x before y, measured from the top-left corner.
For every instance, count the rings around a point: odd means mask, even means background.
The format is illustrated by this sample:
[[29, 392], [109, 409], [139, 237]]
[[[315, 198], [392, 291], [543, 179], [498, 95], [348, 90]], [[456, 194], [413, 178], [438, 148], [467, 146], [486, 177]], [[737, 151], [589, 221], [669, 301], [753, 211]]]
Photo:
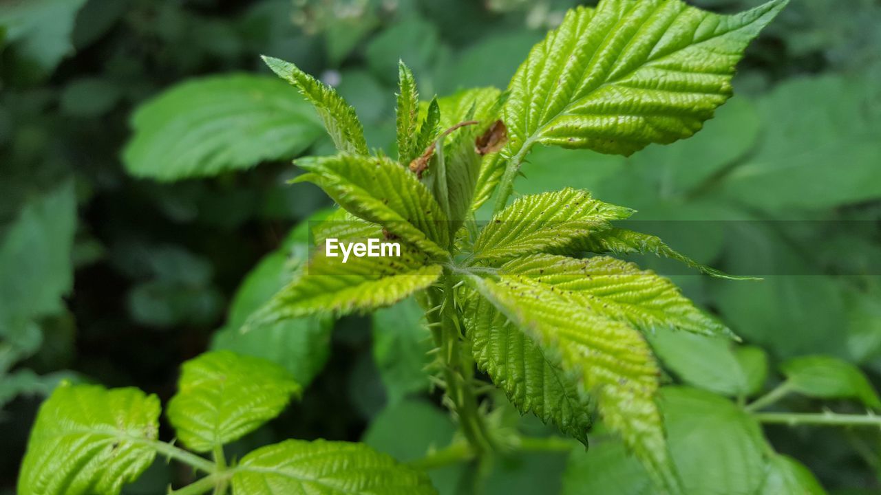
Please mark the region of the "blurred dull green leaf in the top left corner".
[[85, 0], [18, 0], [0, 4], [6, 42], [44, 73], [73, 51], [70, 34]]

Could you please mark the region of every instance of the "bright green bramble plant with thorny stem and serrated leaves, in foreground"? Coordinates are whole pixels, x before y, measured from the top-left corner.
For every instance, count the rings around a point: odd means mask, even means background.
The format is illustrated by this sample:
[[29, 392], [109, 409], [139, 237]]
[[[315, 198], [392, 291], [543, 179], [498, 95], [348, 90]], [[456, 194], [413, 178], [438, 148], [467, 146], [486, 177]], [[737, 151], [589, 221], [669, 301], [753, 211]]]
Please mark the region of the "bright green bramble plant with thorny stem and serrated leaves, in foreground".
[[[661, 371], [649, 341], [663, 352], [663, 339], [655, 339], [666, 332], [737, 337], [670, 280], [609, 255], [660, 255], [713, 277], [738, 277], [693, 262], [655, 236], [614, 225], [633, 211], [588, 191], [509, 199], [537, 144], [630, 155], [648, 144], [691, 137], [729, 99], [744, 49], [785, 4], [773, 0], [718, 15], [679, 0], [602, 0], [596, 8], [569, 11], [531, 50], [507, 91], [476, 88], [427, 104], [401, 63], [396, 159], [369, 149], [354, 109], [332, 88], [292, 63], [264, 58], [313, 104], [339, 151], [296, 161], [307, 173], [295, 181], [315, 183], [340, 206], [312, 225], [314, 245], [396, 240], [401, 253], [344, 263], [317, 249], [307, 266], [286, 267], [292, 281], [238, 323], [243, 331], [306, 318], [322, 325], [329, 316], [366, 313], [415, 296], [433, 339], [434, 382], [461, 438], [411, 465], [362, 444], [323, 440], [287, 440], [226, 462], [223, 446], [276, 417], [301, 386], [268, 361], [214, 351], [183, 366], [180, 390], [167, 405], [178, 440], [192, 452], [157, 440], [156, 397], [137, 389], [63, 386], [41, 407], [19, 495], [116, 494], [157, 454], [204, 473], [172, 491], [178, 495], [230, 489], [247, 495], [433, 493], [421, 469], [469, 461], [483, 472], [496, 455], [572, 447], [567, 440], [500, 427], [478, 372], [517, 410], [585, 446], [598, 413], [656, 491], [700, 493], [678, 472], [665, 440]], [[492, 218], [478, 222], [478, 210], [493, 196]], [[273, 266], [283, 270], [283, 264]], [[762, 360], [751, 351], [738, 358]], [[820, 361], [789, 363], [789, 380], [745, 405], [745, 397], [761, 388], [759, 373], [733, 391], [743, 407], [730, 414], [757, 411], [790, 391], [879, 405], [858, 372]], [[816, 376], [833, 369], [840, 380], [818, 385]], [[845, 382], [848, 390], [840, 387]], [[670, 408], [689, 401], [707, 403], [687, 388], [663, 396]], [[802, 422], [861, 423], [839, 416]], [[193, 452], [211, 453], [212, 460]], [[761, 492], [820, 490], [796, 463], [773, 451], [766, 455], [771, 467], [763, 471]]]

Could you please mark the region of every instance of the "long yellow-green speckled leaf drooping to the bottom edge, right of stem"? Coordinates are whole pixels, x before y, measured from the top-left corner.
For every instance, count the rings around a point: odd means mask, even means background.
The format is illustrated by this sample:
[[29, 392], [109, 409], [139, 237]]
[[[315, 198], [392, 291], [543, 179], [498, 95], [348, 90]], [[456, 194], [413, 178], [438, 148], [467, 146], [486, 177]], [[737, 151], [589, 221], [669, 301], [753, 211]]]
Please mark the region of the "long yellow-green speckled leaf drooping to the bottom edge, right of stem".
[[560, 368], [577, 377], [581, 392], [596, 398], [603, 421], [622, 436], [655, 483], [681, 491], [655, 404], [658, 369], [638, 330], [529, 279], [469, 280]]

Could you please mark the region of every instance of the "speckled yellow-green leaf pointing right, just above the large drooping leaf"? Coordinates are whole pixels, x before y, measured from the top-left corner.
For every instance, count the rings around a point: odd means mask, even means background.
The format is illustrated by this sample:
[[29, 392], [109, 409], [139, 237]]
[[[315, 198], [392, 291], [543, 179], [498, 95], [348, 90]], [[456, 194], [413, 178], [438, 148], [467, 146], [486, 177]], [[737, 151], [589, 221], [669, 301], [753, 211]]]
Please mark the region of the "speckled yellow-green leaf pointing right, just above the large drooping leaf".
[[629, 321], [646, 334], [657, 329], [685, 330], [705, 336], [734, 336], [700, 311], [669, 279], [636, 264], [608, 256], [578, 260], [559, 255], [529, 255], [507, 262], [500, 273], [551, 285], [596, 313]]

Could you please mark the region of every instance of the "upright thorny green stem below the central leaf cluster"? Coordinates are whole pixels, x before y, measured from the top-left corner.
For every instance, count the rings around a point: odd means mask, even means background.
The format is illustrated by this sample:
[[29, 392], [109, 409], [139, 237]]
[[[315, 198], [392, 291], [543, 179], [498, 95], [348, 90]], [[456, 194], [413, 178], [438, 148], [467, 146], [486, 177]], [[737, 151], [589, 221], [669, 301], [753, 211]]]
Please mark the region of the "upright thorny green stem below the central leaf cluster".
[[[471, 386], [474, 378], [474, 361], [462, 351], [461, 326], [455, 307], [453, 277], [444, 270], [443, 289], [429, 291], [432, 307], [440, 311], [427, 315], [433, 331], [435, 344], [440, 348], [447, 395], [452, 409], [459, 418], [459, 425], [476, 456], [492, 451], [492, 439], [487, 432], [485, 420], [478, 410], [478, 397]], [[435, 324], [436, 323], [436, 324]]]

